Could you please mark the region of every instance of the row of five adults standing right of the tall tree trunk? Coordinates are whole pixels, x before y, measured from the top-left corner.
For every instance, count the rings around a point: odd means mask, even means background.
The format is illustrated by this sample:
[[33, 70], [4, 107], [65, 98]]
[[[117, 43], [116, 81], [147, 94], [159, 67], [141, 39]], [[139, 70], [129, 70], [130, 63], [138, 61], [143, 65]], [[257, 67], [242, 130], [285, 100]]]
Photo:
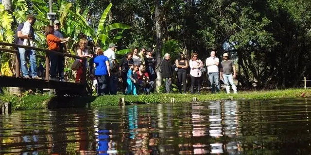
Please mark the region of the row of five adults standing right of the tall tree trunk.
[[[170, 54], [166, 53], [164, 55], [162, 61], [162, 77], [165, 78], [165, 92], [170, 93], [170, 87], [172, 85], [173, 71], [177, 72], [178, 78], [178, 90], [179, 93], [187, 93], [187, 74], [188, 69], [190, 70], [190, 79], [191, 79], [191, 94], [196, 91], [200, 94], [201, 85], [202, 85], [202, 75], [207, 70], [207, 75], [211, 84], [211, 93], [219, 93], [220, 92], [220, 79], [225, 83], [226, 93], [230, 93], [230, 85], [233, 89], [234, 93], [237, 93], [237, 88], [234, 84], [233, 78], [236, 78], [236, 69], [234, 62], [229, 60], [228, 53], [224, 53], [223, 62], [219, 63], [219, 59], [215, 56], [215, 51], [211, 51], [210, 57], [206, 59], [205, 68], [204, 63], [198, 59], [198, 54], [193, 52], [191, 54], [189, 62], [187, 61], [185, 55], [183, 53], [179, 54], [179, 58], [175, 60], [175, 65], [171, 65]], [[230, 85], [229, 85], [230, 83]]]

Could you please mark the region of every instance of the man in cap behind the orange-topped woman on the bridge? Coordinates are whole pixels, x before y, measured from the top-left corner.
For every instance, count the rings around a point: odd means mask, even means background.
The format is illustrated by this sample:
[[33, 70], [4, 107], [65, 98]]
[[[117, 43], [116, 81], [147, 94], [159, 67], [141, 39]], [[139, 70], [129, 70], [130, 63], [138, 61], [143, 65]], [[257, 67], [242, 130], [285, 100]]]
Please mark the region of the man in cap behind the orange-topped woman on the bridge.
[[[54, 20], [54, 35], [57, 38], [64, 38], [63, 33], [60, 31], [60, 22], [59, 20]], [[59, 46], [59, 51], [62, 53], [66, 53], [67, 48], [65, 43], [57, 43]], [[59, 75], [60, 81], [65, 81], [65, 73], [64, 73], [64, 67], [65, 67], [65, 57], [59, 55], [58, 56], [58, 63], [57, 63], [57, 70]]]

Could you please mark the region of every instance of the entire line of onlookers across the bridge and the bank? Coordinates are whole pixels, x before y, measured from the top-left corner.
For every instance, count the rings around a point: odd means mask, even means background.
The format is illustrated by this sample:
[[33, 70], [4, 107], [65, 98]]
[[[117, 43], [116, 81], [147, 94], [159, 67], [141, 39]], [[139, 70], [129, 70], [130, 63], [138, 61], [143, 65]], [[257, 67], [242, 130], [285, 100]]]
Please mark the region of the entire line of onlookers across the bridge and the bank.
[[[17, 28], [17, 44], [24, 46], [35, 46], [34, 42], [34, 29], [32, 25], [35, 23], [35, 16], [27, 16], [27, 21], [19, 24]], [[47, 36], [48, 49], [58, 52], [65, 52], [66, 46], [64, 43], [70, 40], [70, 37], [64, 38], [64, 35], [60, 32], [60, 22], [55, 20], [53, 26], [47, 26], [45, 29], [45, 35]], [[142, 47], [138, 49], [134, 48], [131, 52], [128, 52], [124, 58], [121, 59], [119, 66], [116, 61], [116, 45], [111, 43], [107, 50], [103, 51], [101, 47], [95, 47], [94, 54], [91, 54], [87, 48], [88, 41], [86, 39], [80, 39], [77, 47], [77, 55], [84, 58], [91, 58], [89, 63], [84, 64], [82, 60], [79, 61], [80, 65], [76, 72], [75, 82], [86, 82], [83, 79], [84, 68], [89, 68], [90, 77], [94, 80], [96, 86], [96, 92], [98, 95], [104, 94], [116, 94], [116, 82], [115, 78], [121, 77], [122, 93], [134, 94], [150, 93], [154, 91], [154, 84], [156, 79], [155, 72], [155, 58], [153, 57], [153, 50], [151, 48]], [[21, 62], [21, 70], [24, 78], [39, 78], [36, 72], [36, 57], [35, 50], [18, 48]], [[30, 71], [27, 69], [26, 56], [30, 58]], [[50, 53], [49, 54], [51, 66], [50, 66], [50, 79], [65, 81], [64, 74], [64, 56]], [[173, 72], [177, 72], [178, 78], [178, 90], [179, 93], [187, 93], [187, 74], [190, 74], [191, 78], [191, 93], [196, 91], [200, 94], [202, 85], [202, 72], [205, 72], [205, 64], [207, 66], [207, 75], [211, 83], [211, 92], [220, 92], [219, 75], [220, 79], [225, 83], [225, 89], [227, 93], [230, 93], [230, 86], [232, 86], [233, 92], [237, 93], [236, 86], [233, 78], [236, 78], [236, 70], [234, 62], [228, 59], [228, 54], [224, 53], [223, 62], [219, 63], [219, 59], [215, 57], [215, 51], [210, 53], [210, 57], [206, 59], [204, 64], [198, 59], [198, 54], [193, 52], [190, 60], [186, 59], [183, 53], [179, 54], [178, 59], [175, 60], [174, 67], [171, 62], [171, 55], [166, 53], [160, 65], [160, 72], [165, 79], [165, 92], [170, 93], [170, 87], [172, 85]], [[220, 67], [222, 66], [222, 67]], [[221, 68], [221, 69], [219, 69]], [[189, 73], [190, 70], [190, 73]]]

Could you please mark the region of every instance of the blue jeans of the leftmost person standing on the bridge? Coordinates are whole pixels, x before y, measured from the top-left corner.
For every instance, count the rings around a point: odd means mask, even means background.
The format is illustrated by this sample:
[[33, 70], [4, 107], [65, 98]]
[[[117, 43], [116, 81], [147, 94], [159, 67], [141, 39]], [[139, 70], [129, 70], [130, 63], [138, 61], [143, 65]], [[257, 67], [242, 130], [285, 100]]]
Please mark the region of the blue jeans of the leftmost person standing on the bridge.
[[20, 64], [21, 64], [21, 71], [23, 73], [23, 77], [29, 76], [28, 69], [27, 69], [27, 63], [26, 63], [26, 56], [30, 59], [30, 68], [31, 68], [31, 76], [35, 77], [37, 76], [37, 64], [36, 64], [36, 55], [35, 50], [33, 49], [25, 49], [25, 48], [18, 48], [19, 51], [19, 58], [20, 58]]

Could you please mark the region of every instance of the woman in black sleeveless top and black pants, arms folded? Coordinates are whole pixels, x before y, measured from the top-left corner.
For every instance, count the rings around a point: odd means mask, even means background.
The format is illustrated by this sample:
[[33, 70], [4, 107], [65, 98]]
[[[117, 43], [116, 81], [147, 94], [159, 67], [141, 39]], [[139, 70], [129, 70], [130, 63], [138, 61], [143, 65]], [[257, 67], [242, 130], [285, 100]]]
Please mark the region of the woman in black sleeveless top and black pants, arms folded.
[[[179, 93], [182, 93], [181, 84], [183, 85], [184, 94], [187, 92], [187, 68], [189, 64], [186, 60], [186, 57], [183, 53], [179, 53], [179, 58], [175, 61], [176, 67], [178, 68], [177, 77], [178, 77], [178, 90]], [[174, 69], [174, 68], [173, 68]]]

